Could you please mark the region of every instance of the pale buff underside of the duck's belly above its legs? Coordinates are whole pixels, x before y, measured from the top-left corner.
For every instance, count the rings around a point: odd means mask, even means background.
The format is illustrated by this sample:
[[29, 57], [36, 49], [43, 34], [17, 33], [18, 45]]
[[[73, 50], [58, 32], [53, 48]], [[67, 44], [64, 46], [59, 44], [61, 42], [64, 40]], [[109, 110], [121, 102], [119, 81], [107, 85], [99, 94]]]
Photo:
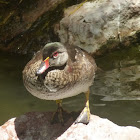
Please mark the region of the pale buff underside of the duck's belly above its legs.
[[60, 89], [59, 91], [47, 92], [46, 88], [41, 87], [41, 90], [37, 90], [35, 88], [27, 88], [27, 90], [34, 96], [44, 99], [44, 100], [59, 100], [72, 96], [76, 96], [82, 92], [88, 91], [91, 86], [93, 80], [88, 82], [77, 83], [74, 86], [65, 87], [64, 89]]

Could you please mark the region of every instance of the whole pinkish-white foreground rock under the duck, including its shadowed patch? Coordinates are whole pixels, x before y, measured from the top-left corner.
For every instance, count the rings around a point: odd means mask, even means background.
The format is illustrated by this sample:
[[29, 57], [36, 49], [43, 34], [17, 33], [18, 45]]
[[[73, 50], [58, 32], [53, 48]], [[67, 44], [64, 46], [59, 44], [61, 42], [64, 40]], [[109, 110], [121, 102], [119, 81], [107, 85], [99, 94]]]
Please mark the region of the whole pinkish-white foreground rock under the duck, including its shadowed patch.
[[74, 124], [69, 117], [64, 126], [50, 124], [53, 113], [30, 112], [8, 120], [0, 127], [0, 140], [140, 140], [140, 129], [118, 126], [91, 115], [88, 125]]

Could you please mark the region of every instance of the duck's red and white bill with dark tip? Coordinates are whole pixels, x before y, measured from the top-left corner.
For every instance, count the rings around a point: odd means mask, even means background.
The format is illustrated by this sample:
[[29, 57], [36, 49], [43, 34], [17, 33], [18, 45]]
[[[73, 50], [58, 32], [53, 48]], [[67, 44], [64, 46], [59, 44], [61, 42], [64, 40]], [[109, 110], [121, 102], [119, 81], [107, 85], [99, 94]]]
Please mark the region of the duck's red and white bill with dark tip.
[[36, 74], [42, 74], [49, 68], [49, 59], [46, 61], [41, 62], [39, 69], [37, 70]]

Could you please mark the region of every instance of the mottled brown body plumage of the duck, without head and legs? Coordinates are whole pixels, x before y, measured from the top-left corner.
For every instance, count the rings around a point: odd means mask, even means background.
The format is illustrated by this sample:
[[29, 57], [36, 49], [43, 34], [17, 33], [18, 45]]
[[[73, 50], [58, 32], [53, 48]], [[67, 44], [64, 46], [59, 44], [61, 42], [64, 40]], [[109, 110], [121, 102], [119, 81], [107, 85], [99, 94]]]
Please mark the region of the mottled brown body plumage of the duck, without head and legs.
[[[53, 48], [56, 44], [59, 46], [59, 43], [55, 42], [49, 47]], [[68, 59], [62, 66], [52, 66], [44, 73], [37, 75], [37, 70], [43, 61], [43, 50], [37, 52], [25, 66], [24, 85], [34, 96], [46, 100], [63, 99], [87, 91], [92, 84], [96, 70], [94, 59], [78, 47], [64, 47], [68, 53]], [[77, 89], [82, 86], [85, 89]]]

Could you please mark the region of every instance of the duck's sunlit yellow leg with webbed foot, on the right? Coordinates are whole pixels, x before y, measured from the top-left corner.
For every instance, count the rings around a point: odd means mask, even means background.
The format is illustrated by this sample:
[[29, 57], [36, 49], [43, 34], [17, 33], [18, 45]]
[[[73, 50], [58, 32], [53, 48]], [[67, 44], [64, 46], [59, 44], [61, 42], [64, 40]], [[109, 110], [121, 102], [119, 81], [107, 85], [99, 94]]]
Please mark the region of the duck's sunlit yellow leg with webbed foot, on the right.
[[83, 123], [83, 124], [89, 123], [89, 120], [90, 120], [89, 93], [90, 93], [89, 90], [85, 93], [86, 105], [83, 111], [80, 113], [79, 117], [76, 119], [75, 123]]

